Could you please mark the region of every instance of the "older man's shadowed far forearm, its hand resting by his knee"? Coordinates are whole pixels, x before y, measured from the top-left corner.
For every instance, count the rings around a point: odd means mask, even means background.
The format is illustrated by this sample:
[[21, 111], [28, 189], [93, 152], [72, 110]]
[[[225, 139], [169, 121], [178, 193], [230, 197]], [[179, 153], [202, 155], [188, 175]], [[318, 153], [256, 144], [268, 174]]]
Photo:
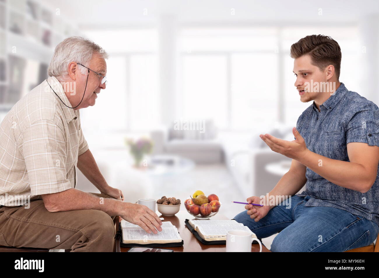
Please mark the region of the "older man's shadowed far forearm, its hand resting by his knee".
[[85, 177], [96, 186], [100, 192], [103, 192], [108, 186], [108, 183], [106, 183], [99, 167], [97, 166], [95, 158], [89, 149], [78, 156], [77, 166], [83, 175], [85, 175]]

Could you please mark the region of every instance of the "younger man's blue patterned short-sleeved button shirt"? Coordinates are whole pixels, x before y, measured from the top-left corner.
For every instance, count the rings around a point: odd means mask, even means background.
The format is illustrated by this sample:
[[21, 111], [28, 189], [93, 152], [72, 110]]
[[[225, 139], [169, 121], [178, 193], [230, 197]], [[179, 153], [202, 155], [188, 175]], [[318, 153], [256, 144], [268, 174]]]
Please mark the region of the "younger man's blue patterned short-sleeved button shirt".
[[[349, 161], [346, 144], [362, 142], [379, 146], [379, 108], [341, 83], [320, 105], [320, 112], [313, 101], [299, 116], [296, 128], [310, 151]], [[307, 167], [305, 191], [297, 195], [311, 197], [306, 207], [340, 208], [379, 225], [379, 167], [377, 173], [371, 189], [360, 193], [335, 185]]]

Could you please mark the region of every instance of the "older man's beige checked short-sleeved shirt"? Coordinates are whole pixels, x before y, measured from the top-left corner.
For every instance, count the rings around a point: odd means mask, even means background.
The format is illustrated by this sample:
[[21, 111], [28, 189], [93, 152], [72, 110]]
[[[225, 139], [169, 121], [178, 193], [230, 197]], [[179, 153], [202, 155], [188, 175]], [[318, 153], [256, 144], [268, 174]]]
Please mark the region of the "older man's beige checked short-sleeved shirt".
[[[49, 84], [52, 88], [50, 88]], [[50, 76], [8, 112], [0, 125], [0, 205], [75, 188], [78, 155], [88, 149], [79, 110]]]

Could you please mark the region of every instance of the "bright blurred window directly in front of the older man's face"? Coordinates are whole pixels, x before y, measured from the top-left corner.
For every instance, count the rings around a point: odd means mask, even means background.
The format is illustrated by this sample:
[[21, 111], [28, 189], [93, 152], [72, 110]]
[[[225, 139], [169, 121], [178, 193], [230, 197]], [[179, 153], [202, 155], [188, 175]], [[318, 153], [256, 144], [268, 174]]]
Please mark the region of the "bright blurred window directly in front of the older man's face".
[[109, 54], [109, 85], [96, 105], [81, 110], [82, 126], [93, 131], [149, 130], [160, 123], [157, 30], [87, 31]]

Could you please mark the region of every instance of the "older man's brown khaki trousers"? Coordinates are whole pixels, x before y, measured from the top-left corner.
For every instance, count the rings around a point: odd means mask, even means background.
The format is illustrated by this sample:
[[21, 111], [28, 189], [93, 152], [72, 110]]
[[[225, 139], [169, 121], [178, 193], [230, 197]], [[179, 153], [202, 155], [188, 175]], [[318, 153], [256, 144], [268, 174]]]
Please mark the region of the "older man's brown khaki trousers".
[[[113, 198], [106, 194], [91, 193]], [[43, 200], [25, 206], [0, 207], [0, 245], [71, 252], [114, 252], [118, 216], [100, 210], [50, 212]]]

